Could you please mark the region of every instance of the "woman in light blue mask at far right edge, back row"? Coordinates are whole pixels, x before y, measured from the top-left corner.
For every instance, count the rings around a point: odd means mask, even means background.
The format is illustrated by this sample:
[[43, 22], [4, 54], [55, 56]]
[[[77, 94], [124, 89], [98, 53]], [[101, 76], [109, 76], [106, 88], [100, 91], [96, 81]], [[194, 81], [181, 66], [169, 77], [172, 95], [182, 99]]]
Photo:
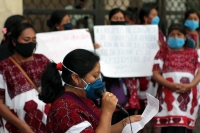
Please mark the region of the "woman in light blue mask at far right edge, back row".
[[199, 38], [200, 38], [200, 33], [197, 30], [199, 28], [199, 20], [200, 16], [197, 11], [191, 9], [188, 10], [185, 13], [185, 23], [184, 25], [186, 26], [186, 32], [188, 38], [192, 39], [192, 41], [189, 41], [188, 47], [190, 48], [199, 48]]

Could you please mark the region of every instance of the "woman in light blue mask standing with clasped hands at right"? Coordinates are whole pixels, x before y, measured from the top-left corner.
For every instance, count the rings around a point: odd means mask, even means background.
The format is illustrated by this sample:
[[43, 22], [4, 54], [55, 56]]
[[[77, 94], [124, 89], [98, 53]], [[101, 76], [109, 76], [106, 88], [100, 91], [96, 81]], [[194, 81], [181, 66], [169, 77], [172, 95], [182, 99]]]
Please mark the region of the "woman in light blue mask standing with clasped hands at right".
[[186, 30], [173, 24], [168, 30], [168, 48], [155, 56], [153, 78], [162, 85], [157, 96], [159, 113], [154, 125], [161, 133], [192, 133], [198, 112], [200, 62], [197, 52], [187, 48]]

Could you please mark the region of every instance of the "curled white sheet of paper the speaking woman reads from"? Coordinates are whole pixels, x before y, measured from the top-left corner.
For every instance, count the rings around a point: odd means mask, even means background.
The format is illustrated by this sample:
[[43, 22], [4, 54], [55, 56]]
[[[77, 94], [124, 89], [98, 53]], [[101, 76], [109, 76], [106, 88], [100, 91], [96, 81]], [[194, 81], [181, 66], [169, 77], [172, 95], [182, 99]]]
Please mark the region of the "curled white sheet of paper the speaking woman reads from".
[[[131, 123], [133, 133], [137, 133], [139, 130], [141, 130], [146, 125], [146, 123], [148, 123], [158, 113], [158, 110], [159, 100], [147, 93], [147, 106], [142, 113], [142, 120]], [[122, 133], [132, 133], [130, 124], [127, 124], [124, 127]]]

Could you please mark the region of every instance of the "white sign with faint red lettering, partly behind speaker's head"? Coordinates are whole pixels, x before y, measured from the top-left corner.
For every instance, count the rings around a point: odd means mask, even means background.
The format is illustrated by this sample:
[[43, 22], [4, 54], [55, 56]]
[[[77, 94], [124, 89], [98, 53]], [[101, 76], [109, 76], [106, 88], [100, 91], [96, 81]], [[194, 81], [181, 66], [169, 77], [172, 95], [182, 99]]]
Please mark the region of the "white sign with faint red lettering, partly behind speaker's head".
[[36, 53], [44, 54], [56, 63], [78, 48], [94, 51], [90, 33], [85, 29], [37, 34]]

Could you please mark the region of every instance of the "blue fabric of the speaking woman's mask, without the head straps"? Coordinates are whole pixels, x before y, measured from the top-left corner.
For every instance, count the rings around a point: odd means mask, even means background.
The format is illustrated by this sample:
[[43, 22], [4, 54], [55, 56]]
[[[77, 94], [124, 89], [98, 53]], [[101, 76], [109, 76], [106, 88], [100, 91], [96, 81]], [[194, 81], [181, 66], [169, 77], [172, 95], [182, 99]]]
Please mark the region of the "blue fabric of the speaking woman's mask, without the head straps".
[[97, 79], [96, 81], [94, 81], [93, 83], [90, 83], [90, 84], [86, 83], [86, 84], [87, 85], [84, 87], [84, 90], [86, 91], [86, 97], [89, 98], [89, 99], [91, 99], [91, 100], [96, 100], [96, 99], [99, 98], [95, 94], [95, 91], [97, 89], [101, 89], [102, 91], [104, 91], [104, 84], [103, 84], [103, 82], [101, 81], [100, 78]]

